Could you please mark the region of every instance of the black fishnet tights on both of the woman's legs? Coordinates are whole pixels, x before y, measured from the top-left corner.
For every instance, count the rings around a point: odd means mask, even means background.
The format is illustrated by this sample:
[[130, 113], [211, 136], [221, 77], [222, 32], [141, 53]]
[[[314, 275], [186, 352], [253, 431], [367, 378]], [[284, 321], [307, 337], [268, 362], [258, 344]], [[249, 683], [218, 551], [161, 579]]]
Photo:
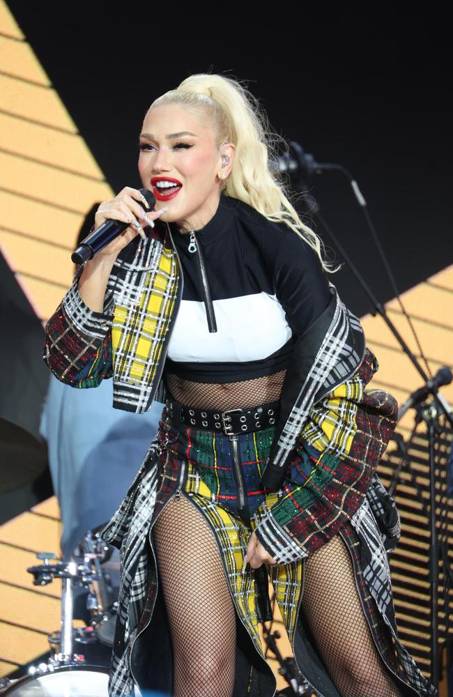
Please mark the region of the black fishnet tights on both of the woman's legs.
[[[174, 648], [174, 697], [231, 697], [236, 611], [213, 533], [181, 496], [164, 507], [153, 537]], [[374, 646], [339, 535], [307, 559], [302, 610], [341, 697], [401, 697]]]

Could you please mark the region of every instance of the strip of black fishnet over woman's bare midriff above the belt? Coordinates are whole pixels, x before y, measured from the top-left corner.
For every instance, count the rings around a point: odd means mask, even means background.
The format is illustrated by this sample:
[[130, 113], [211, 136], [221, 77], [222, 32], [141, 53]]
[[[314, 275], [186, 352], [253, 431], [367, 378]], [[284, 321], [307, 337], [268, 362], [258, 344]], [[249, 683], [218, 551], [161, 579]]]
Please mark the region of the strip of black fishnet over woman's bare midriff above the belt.
[[248, 409], [277, 401], [282, 392], [285, 370], [238, 383], [194, 383], [174, 374], [165, 376], [170, 395], [176, 401], [204, 409]]

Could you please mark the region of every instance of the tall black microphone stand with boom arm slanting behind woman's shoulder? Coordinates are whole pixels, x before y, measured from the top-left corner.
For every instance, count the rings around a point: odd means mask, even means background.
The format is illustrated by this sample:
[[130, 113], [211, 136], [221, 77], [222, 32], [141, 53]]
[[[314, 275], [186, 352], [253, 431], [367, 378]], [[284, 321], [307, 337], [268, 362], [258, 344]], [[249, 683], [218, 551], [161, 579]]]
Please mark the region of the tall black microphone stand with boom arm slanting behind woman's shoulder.
[[[301, 194], [304, 194], [309, 187], [307, 185], [306, 179], [304, 174], [302, 172], [304, 171], [307, 174], [314, 174], [316, 171], [320, 173], [321, 167], [316, 168], [316, 162], [314, 162], [312, 155], [307, 155], [306, 153], [303, 153], [302, 148], [297, 144], [291, 141], [291, 146], [293, 148], [293, 151], [295, 151], [296, 156], [298, 158], [299, 162], [303, 161], [302, 164], [302, 171], [299, 169], [298, 171], [296, 170], [295, 174], [291, 176], [291, 182], [293, 185], [293, 189], [300, 192]], [[304, 158], [302, 160], [302, 158]], [[309, 166], [310, 166], [310, 160], [308, 160], [308, 167], [307, 167], [307, 158], [312, 158], [311, 160], [311, 166], [312, 166], [312, 171], [309, 171]], [[353, 178], [346, 172], [346, 170], [343, 167], [338, 167], [337, 165], [328, 165], [323, 167], [323, 169], [339, 169], [340, 171], [343, 171], [346, 176], [348, 176], [348, 179], [351, 183], [351, 186], [353, 187], [353, 191], [355, 193], [355, 197], [358, 199], [358, 203], [360, 206], [362, 206], [362, 209], [364, 212], [367, 209], [367, 203], [362, 196], [360, 189], [358, 187], [358, 184], [353, 180]], [[365, 281], [364, 277], [362, 277], [362, 274], [358, 270], [357, 266], [355, 266], [355, 263], [353, 263], [351, 257], [347, 254], [346, 250], [344, 249], [343, 245], [339, 242], [337, 236], [335, 233], [332, 231], [330, 225], [326, 220], [323, 218], [323, 216], [320, 213], [320, 208], [318, 206], [318, 203], [316, 199], [312, 196], [312, 194], [309, 194], [308, 197], [305, 197], [305, 201], [307, 203], [307, 210], [304, 211], [304, 213], [308, 213], [311, 217], [314, 217], [315, 220], [317, 220], [322, 227], [325, 229], [325, 231], [328, 233], [328, 236], [332, 240], [332, 242], [335, 244], [337, 247], [337, 250], [343, 257], [346, 266], [352, 271], [353, 275], [357, 279], [358, 283], [360, 286], [362, 286], [362, 289], [364, 292], [367, 294], [369, 299], [371, 300], [372, 305], [374, 306], [374, 312], [371, 311], [371, 314], [376, 316], [376, 314], [380, 314], [383, 321], [385, 321], [385, 324], [387, 327], [390, 329], [394, 337], [397, 339], [397, 342], [403, 349], [404, 353], [408, 356], [410, 362], [413, 364], [417, 372], [422, 376], [422, 379], [426, 385], [427, 391], [431, 393], [433, 396], [433, 402], [431, 405], [426, 406], [425, 410], [422, 413], [422, 418], [424, 422], [427, 424], [427, 429], [428, 429], [428, 436], [429, 436], [429, 477], [430, 477], [430, 486], [429, 486], [429, 493], [430, 493], [430, 507], [429, 507], [429, 530], [431, 533], [431, 539], [430, 539], [430, 549], [429, 549], [429, 554], [430, 554], [430, 565], [429, 565], [429, 575], [430, 575], [430, 585], [431, 585], [431, 683], [433, 684], [436, 689], [438, 689], [438, 682], [439, 682], [439, 658], [438, 658], [438, 588], [437, 588], [437, 581], [438, 581], [438, 560], [439, 560], [439, 546], [440, 542], [438, 541], [438, 535], [436, 532], [436, 480], [435, 480], [435, 456], [434, 456], [434, 438], [436, 434], [436, 430], [441, 430], [440, 425], [438, 424], [438, 418], [440, 415], [444, 415], [445, 419], [450, 422], [450, 426], [453, 427], [453, 418], [452, 418], [452, 408], [448, 404], [447, 400], [443, 397], [443, 395], [440, 395], [438, 392], [438, 388], [436, 385], [431, 384], [431, 380], [429, 379], [429, 376], [424, 372], [424, 369], [418, 362], [417, 358], [415, 355], [413, 355], [412, 351], [410, 351], [410, 348], [404, 341], [403, 337], [401, 337], [401, 334], [395, 327], [395, 325], [392, 323], [390, 318], [387, 316], [387, 312], [385, 312], [385, 308], [383, 307], [382, 303], [378, 300], [378, 298], [374, 295], [373, 291], [371, 290], [369, 284]], [[365, 213], [365, 216], [367, 217], [367, 212]], [[367, 220], [369, 220], [369, 217], [367, 217]], [[415, 431], [414, 431], [415, 432]], [[411, 436], [412, 437], [412, 436]], [[415, 476], [412, 475], [413, 480], [415, 481]], [[417, 487], [417, 490], [420, 492], [420, 488]], [[421, 493], [421, 492], [420, 492]], [[419, 493], [419, 496], [420, 496]], [[423, 499], [420, 498], [422, 502], [422, 506], [424, 507], [424, 502]], [[447, 518], [447, 513], [443, 512], [443, 518]], [[445, 526], [446, 528], [446, 526]], [[442, 554], [442, 559], [447, 562], [447, 566], [443, 568], [443, 576], [444, 576], [444, 590], [447, 587], [447, 578], [451, 578], [451, 570], [450, 570], [450, 565], [448, 564], [447, 560], [447, 554], [443, 553]], [[446, 625], [446, 639], [447, 639], [447, 660], [450, 659], [450, 641], [449, 641], [449, 636], [447, 634], [447, 629], [449, 627], [449, 613], [450, 613], [450, 608], [449, 608], [449, 596], [448, 594], [446, 595], [446, 600], [445, 600], [445, 625]], [[447, 664], [449, 665], [449, 664]]]

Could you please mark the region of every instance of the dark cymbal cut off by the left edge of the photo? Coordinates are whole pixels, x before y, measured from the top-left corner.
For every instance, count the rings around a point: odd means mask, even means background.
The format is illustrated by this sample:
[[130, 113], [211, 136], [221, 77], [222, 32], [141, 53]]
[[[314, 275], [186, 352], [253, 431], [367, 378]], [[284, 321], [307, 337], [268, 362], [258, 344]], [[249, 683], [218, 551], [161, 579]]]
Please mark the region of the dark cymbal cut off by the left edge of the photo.
[[43, 443], [29, 431], [0, 417], [0, 493], [34, 482], [46, 467]]

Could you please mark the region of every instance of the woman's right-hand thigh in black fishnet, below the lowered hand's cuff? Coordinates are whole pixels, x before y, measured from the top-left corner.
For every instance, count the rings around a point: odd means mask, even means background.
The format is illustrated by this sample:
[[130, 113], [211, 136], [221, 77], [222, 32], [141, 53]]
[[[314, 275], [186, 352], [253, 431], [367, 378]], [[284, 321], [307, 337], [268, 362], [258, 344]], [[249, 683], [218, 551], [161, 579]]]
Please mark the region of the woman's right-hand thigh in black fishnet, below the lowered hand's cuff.
[[342, 697], [401, 697], [374, 645], [340, 535], [307, 559], [302, 609]]

